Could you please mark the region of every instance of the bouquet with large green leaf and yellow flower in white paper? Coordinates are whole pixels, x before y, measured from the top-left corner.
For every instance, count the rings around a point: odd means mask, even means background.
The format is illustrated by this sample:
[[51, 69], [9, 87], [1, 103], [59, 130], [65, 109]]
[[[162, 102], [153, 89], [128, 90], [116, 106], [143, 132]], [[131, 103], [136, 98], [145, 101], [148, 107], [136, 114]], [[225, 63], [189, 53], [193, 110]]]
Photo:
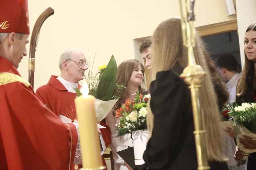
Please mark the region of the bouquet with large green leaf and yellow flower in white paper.
[[117, 66], [113, 55], [107, 66], [102, 65], [98, 68], [98, 73], [92, 76], [88, 66], [88, 77], [84, 75], [87, 86], [83, 85], [81, 89], [76, 89], [76, 93], [78, 96], [89, 94], [95, 97], [96, 117], [97, 121], [101, 121], [117, 102], [117, 93], [123, 86], [116, 83]]

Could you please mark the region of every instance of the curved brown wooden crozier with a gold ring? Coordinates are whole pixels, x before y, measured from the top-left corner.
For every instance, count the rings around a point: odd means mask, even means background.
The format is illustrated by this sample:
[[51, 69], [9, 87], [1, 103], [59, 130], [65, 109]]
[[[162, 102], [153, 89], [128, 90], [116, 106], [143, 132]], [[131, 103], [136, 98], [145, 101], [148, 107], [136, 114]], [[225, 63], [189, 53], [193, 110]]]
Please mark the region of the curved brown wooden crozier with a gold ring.
[[35, 50], [39, 40], [39, 34], [42, 24], [45, 20], [54, 14], [54, 9], [49, 7], [37, 18], [33, 32], [31, 34], [28, 59], [28, 82], [34, 87], [34, 71], [35, 71]]

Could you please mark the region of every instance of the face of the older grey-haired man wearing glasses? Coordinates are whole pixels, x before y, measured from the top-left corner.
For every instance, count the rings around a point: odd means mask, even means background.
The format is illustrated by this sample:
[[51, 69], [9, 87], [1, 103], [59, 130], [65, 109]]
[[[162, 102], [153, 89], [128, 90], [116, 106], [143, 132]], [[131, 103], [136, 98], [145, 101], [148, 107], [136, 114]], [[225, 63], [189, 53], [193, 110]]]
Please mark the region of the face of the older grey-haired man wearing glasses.
[[[73, 60], [73, 61], [72, 61]], [[77, 83], [84, 79], [84, 72], [87, 70], [86, 59], [80, 51], [72, 51], [71, 60], [67, 60], [68, 80]]]

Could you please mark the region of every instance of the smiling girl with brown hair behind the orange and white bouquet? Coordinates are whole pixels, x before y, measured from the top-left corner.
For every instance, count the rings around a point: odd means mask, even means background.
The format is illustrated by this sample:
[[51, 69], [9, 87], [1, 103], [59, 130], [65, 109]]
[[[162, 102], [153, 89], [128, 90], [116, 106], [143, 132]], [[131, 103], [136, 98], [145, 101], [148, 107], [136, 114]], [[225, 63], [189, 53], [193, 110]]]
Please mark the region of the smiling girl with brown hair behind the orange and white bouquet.
[[144, 74], [145, 68], [143, 64], [135, 59], [126, 60], [117, 67], [116, 82], [126, 88], [122, 88], [119, 92], [120, 98], [116, 102], [113, 110], [111, 110], [107, 115], [106, 121], [112, 132], [110, 147], [113, 152], [115, 161], [120, 166], [120, 168], [117, 166], [117, 169], [119, 168], [120, 170], [131, 168], [119, 155], [117, 155], [116, 152], [127, 149], [128, 147], [132, 147], [133, 143], [130, 134], [117, 137], [118, 132], [116, 132], [116, 124], [118, 124], [119, 118], [114, 117], [115, 111], [121, 107], [125, 100], [130, 99], [132, 101], [134, 98], [134, 93], [139, 91], [140, 94], [143, 94], [145, 92], [145, 89], [141, 86], [141, 84], [145, 83]]

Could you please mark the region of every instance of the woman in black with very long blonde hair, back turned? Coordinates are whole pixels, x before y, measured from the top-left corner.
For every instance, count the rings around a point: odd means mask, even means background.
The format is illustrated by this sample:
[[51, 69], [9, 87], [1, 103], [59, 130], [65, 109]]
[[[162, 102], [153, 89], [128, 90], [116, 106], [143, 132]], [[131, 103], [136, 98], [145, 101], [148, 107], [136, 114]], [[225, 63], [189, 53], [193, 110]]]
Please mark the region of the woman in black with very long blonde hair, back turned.
[[[206, 73], [199, 88], [203, 126], [206, 130], [207, 158], [211, 170], [228, 170], [218, 100], [205, 61], [205, 49], [196, 36], [193, 48], [195, 62]], [[188, 85], [179, 77], [188, 65], [187, 48], [183, 46], [179, 18], [162, 22], [154, 32], [152, 43], [151, 101], [147, 143], [140, 168], [197, 169], [194, 123]]]

